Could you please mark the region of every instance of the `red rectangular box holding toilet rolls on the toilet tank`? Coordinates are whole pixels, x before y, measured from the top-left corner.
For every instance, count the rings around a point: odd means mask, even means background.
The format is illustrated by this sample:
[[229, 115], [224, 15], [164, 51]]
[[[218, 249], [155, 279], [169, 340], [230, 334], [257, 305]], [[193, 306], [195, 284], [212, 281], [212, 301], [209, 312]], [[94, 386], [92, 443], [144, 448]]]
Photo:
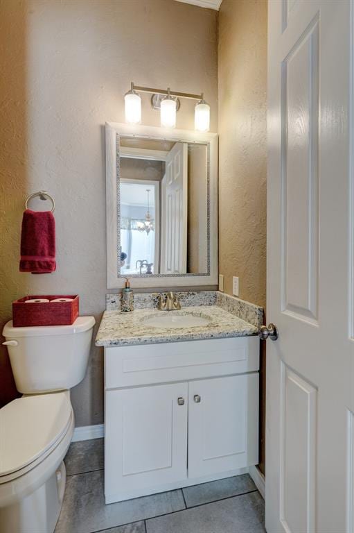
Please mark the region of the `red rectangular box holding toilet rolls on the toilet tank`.
[[[27, 300], [46, 298], [49, 302], [26, 303]], [[57, 298], [73, 298], [71, 302], [53, 302]], [[25, 296], [12, 302], [12, 321], [15, 328], [30, 325], [71, 325], [79, 316], [77, 294]]]

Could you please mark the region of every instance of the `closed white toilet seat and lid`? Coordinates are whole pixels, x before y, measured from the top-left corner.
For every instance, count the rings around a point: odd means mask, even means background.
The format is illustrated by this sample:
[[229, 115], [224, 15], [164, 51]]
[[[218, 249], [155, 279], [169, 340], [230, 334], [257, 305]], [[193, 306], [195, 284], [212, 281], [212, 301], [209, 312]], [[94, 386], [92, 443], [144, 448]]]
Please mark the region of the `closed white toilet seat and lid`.
[[44, 461], [72, 425], [66, 392], [23, 396], [0, 409], [0, 484]]

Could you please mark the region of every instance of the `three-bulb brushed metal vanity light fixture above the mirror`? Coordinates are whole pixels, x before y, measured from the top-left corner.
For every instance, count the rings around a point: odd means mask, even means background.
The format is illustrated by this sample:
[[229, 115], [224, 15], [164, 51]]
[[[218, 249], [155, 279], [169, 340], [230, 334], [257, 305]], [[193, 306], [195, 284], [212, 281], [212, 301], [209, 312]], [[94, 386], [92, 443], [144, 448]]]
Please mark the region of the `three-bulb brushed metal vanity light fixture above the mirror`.
[[210, 127], [210, 105], [204, 100], [204, 94], [191, 94], [188, 92], [177, 92], [163, 89], [152, 89], [151, 87], [141, 87], [131, 83], [130, 91], [125, 98], [125, 120], [130, 124], [139, 124], [141, 121], [141, 97], [137, 92], [148, 92], [152, 94], [151, 105], [161, 113], [161, 126], [163, 128], [175, 128], [176, 113], [179, 110], [180, 98], [197, 100], [195, 105], [194, 124], [198, 131], [209, 131]]

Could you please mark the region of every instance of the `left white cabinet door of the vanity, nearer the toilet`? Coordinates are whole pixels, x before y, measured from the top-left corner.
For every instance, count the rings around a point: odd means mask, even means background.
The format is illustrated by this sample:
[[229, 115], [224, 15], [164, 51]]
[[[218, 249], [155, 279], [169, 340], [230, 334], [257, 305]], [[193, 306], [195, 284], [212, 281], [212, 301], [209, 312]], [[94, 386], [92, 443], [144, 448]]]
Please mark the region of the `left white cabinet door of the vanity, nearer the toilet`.
[[106, 503], [186, 479], [187, 418], [187, 383], [106, 391]]

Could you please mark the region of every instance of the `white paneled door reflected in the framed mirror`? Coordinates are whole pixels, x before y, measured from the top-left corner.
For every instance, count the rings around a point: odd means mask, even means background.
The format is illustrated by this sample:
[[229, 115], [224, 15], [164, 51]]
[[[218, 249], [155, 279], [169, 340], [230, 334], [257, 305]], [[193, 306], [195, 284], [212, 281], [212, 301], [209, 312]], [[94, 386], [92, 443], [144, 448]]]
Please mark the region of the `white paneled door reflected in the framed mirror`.
[[167, 155], [161, 194], [161, 273], [186, 273], [188, 209], [186, 142], [176, 142]]

